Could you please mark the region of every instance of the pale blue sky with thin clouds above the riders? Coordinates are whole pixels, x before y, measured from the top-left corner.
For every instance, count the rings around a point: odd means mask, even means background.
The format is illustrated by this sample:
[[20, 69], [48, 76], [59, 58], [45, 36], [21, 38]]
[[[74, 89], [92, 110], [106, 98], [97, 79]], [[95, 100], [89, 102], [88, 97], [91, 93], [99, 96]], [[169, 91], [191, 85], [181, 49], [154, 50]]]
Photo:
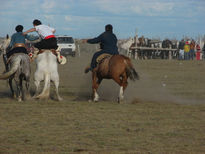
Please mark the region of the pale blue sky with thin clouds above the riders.
[[0, 36], [34, 19], [57, 35], [92, 38], [112, 24], [118, 38], [196, 37], [205, 34], [205, 0], [0, 0]]

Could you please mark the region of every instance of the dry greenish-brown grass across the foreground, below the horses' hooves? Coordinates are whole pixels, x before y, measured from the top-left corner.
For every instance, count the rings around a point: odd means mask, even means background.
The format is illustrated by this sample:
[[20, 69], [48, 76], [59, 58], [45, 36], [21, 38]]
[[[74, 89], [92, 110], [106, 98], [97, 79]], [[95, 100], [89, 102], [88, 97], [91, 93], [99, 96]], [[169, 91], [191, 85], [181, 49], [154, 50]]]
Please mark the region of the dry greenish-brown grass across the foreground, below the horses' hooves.
[[0, 103], [0, 153], [203, 153], [205, 106]]

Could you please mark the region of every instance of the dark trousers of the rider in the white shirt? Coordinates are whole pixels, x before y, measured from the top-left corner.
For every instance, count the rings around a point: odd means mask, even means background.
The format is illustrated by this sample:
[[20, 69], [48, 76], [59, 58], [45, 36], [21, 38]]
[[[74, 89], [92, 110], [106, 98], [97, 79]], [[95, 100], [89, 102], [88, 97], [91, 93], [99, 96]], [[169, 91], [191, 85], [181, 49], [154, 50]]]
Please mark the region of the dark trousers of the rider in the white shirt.
[[55, 37], [49, 39], [43, 39], [38, 43], [34, 44], [34, 47], [40, 49], [57, 49], [57, 39]]

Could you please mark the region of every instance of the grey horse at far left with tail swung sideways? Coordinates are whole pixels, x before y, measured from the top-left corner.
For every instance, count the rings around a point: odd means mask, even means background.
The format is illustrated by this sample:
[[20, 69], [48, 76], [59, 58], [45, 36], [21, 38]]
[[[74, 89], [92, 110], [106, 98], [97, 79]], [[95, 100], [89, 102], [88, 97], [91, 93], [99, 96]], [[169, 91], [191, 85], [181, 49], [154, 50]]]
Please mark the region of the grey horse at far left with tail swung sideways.
[[[15, 53], [9, 59], [8, 66], [9, 70], [0, 75], [0, 80], [9, 79], [12, 96], [14, 98], [16, 96], [18, 101], [22, 101], [25, 96], [23, 91], [23, 80], [25, 80], [26, 93], [29, 94], [29, 81], [31, 74], [30, 58], [25, 53]], [[13, 79], [16, 83], [16, 94], [12, 85]]]

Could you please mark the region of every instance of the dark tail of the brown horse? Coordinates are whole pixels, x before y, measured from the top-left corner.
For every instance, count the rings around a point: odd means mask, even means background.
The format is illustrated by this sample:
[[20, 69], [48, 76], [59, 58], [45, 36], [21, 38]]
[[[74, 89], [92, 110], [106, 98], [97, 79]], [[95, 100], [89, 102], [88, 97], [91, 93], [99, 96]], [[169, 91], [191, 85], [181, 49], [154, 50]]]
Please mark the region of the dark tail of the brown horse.
[[125, 57], [125, 62], [127, 64], [127, 67], [126, 67], [126, 73], [127, 73], [127, 76], [132, 80], [132, 81], [135, 81], [135, 79], [139, 80], [140, 77], [138, 75], [138, 73], [135, 71], [132, 63], [131, 63], [131, 60], [128, 58], [128, 57]]

